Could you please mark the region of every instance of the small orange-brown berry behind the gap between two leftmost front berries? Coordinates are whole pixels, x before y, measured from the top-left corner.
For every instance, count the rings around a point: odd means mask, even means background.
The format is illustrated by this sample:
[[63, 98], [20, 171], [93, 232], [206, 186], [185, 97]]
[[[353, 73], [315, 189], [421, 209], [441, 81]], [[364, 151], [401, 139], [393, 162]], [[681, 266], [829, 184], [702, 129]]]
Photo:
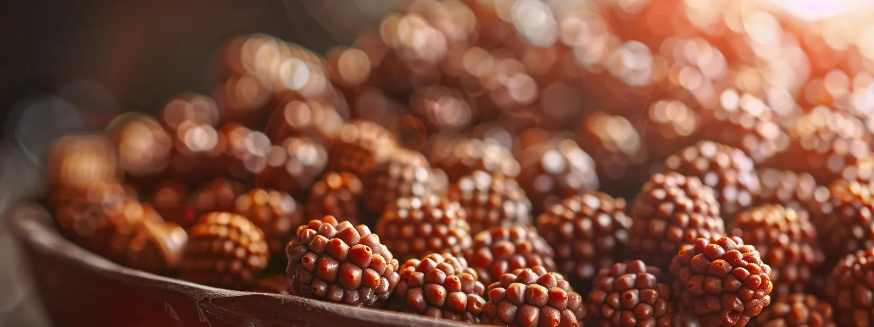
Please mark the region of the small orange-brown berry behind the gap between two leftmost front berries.
[[303, 225], [302, 208], [285, 192], [270, 188], [253, 188], [237, 197], [236, 212], [252, 221], [264, 232], [270, 254], [280, 256], [285, 246]]

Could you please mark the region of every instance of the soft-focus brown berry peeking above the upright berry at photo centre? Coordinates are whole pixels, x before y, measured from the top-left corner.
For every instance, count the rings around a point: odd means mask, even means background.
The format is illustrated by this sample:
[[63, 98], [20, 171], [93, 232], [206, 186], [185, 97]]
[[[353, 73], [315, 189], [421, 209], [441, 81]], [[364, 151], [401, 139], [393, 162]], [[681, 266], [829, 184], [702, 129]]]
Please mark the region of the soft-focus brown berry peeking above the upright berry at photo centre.
[[521, 169], [513, 153], [493, 140], [454, 138], [431, 143], [428, 160], [443, 169], [451, 182], [477, 170], [516, 177]]

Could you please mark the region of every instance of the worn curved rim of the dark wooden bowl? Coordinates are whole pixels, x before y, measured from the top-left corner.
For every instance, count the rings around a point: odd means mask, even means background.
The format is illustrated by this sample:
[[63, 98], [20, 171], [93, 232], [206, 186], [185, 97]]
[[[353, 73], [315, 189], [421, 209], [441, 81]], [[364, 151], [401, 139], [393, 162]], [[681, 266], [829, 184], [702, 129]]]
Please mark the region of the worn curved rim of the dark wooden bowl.
[[72, 263], [81, 269], [87, 269], [99, 276], [123, 283], [137, 283], [145, 287], [183, 293], [199, 300], [221, 297], [269, 296], [277, 298], [281, 303], [286, 303], [287, 305], [309, 307], [316, 312], [322, 312], [322, 314], [346, 317], [370, 324], [422, 327], [447, 327], [466, 324], [448, 319], [435, 319], [403, 312], [359, 308], [302, 296], [224, 290], [167, 276], [159, 276], [138, 269], [130, 269], [81, 248], [79, 245], [70, 242], [60, 235], [57, 228], [55, 228], [52, 215], [37, 201], [21, 201], [17, 203], [17, 205], [10, 208], [5, 218], [10, 225], [12, 235], [24, 248], [42, 252], [57, 260]]

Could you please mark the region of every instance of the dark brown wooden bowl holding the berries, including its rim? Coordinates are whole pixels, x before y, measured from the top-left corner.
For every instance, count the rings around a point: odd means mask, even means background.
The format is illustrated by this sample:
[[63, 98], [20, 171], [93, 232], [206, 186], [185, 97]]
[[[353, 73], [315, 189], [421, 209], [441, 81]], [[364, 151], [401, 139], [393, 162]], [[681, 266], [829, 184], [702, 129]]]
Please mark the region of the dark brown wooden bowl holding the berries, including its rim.
[[221, 290], [122, 267], [59, 235], [36, 202], [9, 213], [31, 276], [58, 326], [456, 326], [301, 296]]

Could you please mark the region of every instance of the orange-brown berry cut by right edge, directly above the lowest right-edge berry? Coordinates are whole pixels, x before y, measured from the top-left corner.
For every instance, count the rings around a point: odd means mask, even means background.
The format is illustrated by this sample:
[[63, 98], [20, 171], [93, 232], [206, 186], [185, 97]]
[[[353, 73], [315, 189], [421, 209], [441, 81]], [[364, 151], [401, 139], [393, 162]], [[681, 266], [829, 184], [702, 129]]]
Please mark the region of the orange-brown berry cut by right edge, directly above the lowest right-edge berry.
[[874, 186], [858, 181], [833, 181], [829, 200], [814, 220], [822, 249], [832, 258], [874, 247]]

